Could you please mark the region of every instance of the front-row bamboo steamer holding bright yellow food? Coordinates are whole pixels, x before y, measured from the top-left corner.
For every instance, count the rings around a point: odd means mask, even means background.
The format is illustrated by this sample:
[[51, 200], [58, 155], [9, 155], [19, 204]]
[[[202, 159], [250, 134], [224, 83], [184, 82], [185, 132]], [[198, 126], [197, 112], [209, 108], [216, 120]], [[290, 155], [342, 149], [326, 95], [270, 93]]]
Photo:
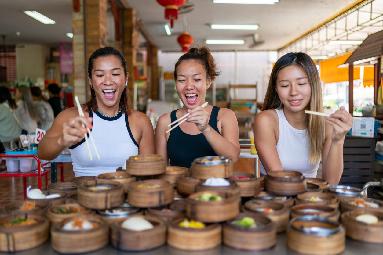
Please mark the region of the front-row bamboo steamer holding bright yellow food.
[[183, 218], [174, 219], [169, 223], [167, 243], [179, 250], [213, 249], [222, 242], [222, 227], [217, 223], [208, 224], [201, 229], [181, 227], [178, 224]]

